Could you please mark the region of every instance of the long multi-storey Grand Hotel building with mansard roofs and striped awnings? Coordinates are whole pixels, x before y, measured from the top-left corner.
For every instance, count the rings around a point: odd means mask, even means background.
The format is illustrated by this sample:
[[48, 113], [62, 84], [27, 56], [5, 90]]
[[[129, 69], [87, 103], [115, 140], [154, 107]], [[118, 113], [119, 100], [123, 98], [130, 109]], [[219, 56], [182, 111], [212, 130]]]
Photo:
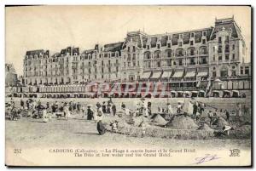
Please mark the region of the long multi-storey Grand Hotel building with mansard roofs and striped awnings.
[[[27, 51], [24, 79], [28, 86], [52, 87], [105, 81], [167, 82], [169, 88], [244, 90], [251, 88], [251, 66], [245, 63], [246, 44], [234, 18], [190, 31], [148, 35], [128, 32], [125, 41], [96, 44], [60, 53]], [[214, 85], [222, 82], [221, 87]], [[45, 89], [45, 88], [44, 88]], [[50, 92], [40, 88], [40, 92]]]

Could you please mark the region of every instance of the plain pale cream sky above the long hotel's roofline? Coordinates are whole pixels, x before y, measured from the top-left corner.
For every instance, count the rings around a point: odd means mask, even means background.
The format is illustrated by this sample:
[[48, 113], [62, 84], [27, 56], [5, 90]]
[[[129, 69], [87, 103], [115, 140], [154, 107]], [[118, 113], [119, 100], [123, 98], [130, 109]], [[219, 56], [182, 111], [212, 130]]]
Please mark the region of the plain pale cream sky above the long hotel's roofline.
[[80, 51], [96, 43], [117, 43], [127, 31], [160, 34], [214, 26], [215, 18], [234, 15], [251, 52], [251, 9], [247, 6], [33, 6], [5, 10], [5, 62], [23, 73], [26, 51], [68, 46]]

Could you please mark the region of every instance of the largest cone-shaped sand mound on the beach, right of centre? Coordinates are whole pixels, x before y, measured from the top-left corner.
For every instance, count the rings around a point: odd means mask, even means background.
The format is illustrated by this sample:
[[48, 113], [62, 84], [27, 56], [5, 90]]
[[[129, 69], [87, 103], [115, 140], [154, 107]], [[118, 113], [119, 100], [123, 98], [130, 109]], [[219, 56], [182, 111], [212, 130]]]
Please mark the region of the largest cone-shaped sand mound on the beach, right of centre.
[[198, 126], [194, 123], [191, 117], [176, 116], [171, 119], [169, 123], [166, 123], [167, 128], [177, 129], [197, 129]]

